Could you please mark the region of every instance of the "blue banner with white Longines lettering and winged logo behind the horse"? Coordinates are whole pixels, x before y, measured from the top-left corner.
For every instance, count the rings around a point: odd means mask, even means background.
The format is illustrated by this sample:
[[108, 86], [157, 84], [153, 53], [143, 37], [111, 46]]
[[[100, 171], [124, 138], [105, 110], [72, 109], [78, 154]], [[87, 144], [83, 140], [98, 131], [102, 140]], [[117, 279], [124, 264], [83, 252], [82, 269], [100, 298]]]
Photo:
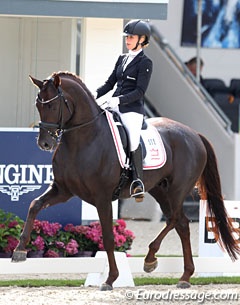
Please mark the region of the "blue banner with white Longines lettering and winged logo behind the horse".
[[[26, 219], [31, 201], [53, 180], [52, 154], [37, 146], [38, 132], [28, 128], [0, 130], [0, 208]], [[73, 198], [39, 213], [38, 219], [81, 223], [81, 200]]]

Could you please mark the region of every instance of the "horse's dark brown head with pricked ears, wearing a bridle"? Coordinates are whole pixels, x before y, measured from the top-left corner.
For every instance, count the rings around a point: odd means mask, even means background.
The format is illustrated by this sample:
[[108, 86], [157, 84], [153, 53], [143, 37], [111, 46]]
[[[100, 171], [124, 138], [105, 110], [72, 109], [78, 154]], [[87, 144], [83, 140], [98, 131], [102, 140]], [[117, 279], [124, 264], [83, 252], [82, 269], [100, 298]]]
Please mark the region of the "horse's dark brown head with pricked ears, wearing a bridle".
[[61, 130], [71, 118], [72, 110], [64, 97], [58, 74], [54, 73], [44, 81], [29, 77], [39, 88], [36, 98], [36, 107], [40, 115], [38, 145], [43, 150], [53, 150]]

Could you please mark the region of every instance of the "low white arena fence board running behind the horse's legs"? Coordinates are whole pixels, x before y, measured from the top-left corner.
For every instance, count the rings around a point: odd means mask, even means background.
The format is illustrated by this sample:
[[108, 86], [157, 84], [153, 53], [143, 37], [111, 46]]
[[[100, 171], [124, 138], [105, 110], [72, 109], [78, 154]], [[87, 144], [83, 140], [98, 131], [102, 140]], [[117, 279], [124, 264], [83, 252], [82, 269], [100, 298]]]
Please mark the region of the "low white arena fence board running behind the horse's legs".
[[[119, 252], [117, 253], [119, 254]], [[121, 253], [124, 255], [124, 253]], [[117, 258], [117, 264], [122, 280], [116, 281], [115, 287], [132, 286], [129, 281], [132, 275], [143, 272], [143, 257], [126, 257], [128, 270], [123, 261]], [[240, 260], [232, 262], [229, 258], [195, 257], [195, 273], [227, 273], [234, 275], [239, 273]], [[13, 263], [11, 259], [0, 259], [0, 274], [94, 274], [94, 283], [100, 284], [99, 279], [106, 279], [108, 272], [108, 261], [106, 257], [80, 257], [80, 258], [28, 258], [25, 262]], [[159, 257], [158, 267], [152, 276], [159, 276], [158, 273], [182, 273], [182, 257]], [[131, 277], [131, 278], [129, 278]], [[92, 280], [91, 280], [92, 281]], [[97, 281], [97, 282], [96, 282]], [[93, 282], [91, 282], [91, 285]], [[85, 283], [86, 285], [86, 283]], [[89, 285], [86, 285], [89, 286]]]

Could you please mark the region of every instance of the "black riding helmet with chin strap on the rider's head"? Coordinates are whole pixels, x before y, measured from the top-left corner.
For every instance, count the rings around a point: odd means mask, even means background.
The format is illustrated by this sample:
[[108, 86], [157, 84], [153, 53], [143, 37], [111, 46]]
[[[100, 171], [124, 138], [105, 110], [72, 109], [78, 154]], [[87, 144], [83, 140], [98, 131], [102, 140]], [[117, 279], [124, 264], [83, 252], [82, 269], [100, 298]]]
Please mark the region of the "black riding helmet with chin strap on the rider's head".
[[[148, 22], [143, 20], [131, 20], [129, 21], [123, 30], [123, 35], [138, 35], [139, 39], [140, 36], [145, 35], [146, 39], [144, 42], [141, 43], [142, 46], [149, 44], [150, 36], [151, 36], [151, 28]], [[137, 46], [136, 46], [137, 48]]]

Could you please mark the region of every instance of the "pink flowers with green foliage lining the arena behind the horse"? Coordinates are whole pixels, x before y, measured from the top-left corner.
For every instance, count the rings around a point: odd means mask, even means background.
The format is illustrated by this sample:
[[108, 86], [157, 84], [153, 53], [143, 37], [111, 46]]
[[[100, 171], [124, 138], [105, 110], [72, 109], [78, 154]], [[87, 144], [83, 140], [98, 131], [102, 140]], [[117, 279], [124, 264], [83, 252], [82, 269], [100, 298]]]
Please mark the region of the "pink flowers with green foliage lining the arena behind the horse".
[[[19, 217], [0, 209], [0, 252], [11, 253], [15, 249], [23, 225]], [[123, 219], [113, 222], [113, 233], [115, 251], [131, 249], [135, 236], [126, 229]], [[84, 251], [96, 253], [104, 250], [101, 225], [96, 221], [88, 226], [67, 224], [62, 227], [57, 222], [35, 220], [27, 250], [29, 255], [38, 252], [43, 257], [73, 257]]]

